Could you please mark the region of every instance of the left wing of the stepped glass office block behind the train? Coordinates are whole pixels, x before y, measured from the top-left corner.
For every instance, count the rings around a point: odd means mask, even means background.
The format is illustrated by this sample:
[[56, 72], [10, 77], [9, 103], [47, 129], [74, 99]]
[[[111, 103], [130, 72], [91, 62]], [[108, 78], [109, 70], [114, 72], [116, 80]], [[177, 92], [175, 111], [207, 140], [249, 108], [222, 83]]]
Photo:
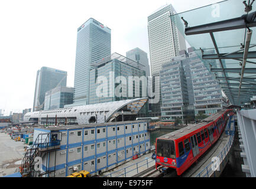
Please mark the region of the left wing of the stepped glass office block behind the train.
[[[183, 52], [183, 51], [182, 51]], [[185, 122], [189, 113], [189, 93], [183, 60], [187, 54], [173, 58], [170, 63], [163, 64], [160, 71], [161, 80], [161, 118]]]

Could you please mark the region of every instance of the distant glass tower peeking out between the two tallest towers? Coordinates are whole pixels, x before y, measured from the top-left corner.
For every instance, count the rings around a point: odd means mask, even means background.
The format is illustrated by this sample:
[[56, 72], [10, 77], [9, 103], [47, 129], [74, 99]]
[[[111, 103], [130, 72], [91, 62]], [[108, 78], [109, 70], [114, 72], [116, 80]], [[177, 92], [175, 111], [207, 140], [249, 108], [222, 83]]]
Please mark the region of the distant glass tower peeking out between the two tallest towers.
[[144, 65], [145, 67], [143, 67], [142, 69], [145, 70], [146, 76], [150, 76], [150, 65], [148, 64], [148, 54], [145, 51], [142, 51], [140, 48], [137, 47], [127, 51], [126, 57]]

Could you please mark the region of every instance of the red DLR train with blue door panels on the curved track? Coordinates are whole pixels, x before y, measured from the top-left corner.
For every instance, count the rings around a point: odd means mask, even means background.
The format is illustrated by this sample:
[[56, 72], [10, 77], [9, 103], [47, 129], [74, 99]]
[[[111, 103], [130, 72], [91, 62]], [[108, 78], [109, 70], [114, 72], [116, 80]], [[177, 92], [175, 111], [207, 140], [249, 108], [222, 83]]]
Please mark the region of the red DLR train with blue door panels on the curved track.
[[232, 109], [221, 110], [196, 123], [156, 139], [155, 168], [162, 165], [182, 175], [221, 136]]

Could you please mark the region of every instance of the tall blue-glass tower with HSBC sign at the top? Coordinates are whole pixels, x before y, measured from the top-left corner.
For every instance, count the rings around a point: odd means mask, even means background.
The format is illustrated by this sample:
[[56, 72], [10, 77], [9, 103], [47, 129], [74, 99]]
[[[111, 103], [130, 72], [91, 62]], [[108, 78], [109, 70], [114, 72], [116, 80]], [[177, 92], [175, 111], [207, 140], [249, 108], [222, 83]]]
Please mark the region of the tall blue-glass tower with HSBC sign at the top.
[[77, 29], [74, 104], [89, 103], [90, 64], [111, 56], [111, 30], [93, 18]]

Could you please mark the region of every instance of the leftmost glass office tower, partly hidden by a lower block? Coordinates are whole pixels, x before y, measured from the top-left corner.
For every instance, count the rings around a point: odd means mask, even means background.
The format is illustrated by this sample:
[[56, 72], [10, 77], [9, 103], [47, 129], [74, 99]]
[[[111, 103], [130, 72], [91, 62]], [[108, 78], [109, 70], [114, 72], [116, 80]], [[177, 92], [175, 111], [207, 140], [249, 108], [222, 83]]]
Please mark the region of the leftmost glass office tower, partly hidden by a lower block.
[[44, 109], [44, 97], [48, 90], [57, 86], [66, 86], [67, 71], [51, 69], [50, 67], [42, 67], [37, 71], [37, 79], [35, 82], [35, 94], [33, 112]]

